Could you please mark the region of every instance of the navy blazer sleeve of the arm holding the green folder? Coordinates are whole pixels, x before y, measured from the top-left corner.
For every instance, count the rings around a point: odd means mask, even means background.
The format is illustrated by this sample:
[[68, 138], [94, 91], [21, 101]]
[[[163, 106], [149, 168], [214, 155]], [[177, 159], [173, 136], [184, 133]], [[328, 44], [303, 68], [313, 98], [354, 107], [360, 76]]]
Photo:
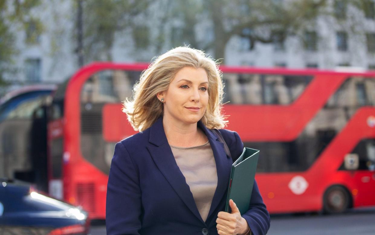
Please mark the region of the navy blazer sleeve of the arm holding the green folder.
[[[231, 153], [234, 153], [232, 156], [240, 156], [243, 151], [243, 143], [237, 132], [233, 132], [233, 135], [235, 141], [233, 141], [229, 148], [231, 148]], [[249, 210], [244, 213], [242, 217], [248, 222], [252, 234], [267, 234], [267, 231], [270, 228], [270, 214], [267, 211], [266, 205], [263, 203], [257, 181], [254, 181]]]

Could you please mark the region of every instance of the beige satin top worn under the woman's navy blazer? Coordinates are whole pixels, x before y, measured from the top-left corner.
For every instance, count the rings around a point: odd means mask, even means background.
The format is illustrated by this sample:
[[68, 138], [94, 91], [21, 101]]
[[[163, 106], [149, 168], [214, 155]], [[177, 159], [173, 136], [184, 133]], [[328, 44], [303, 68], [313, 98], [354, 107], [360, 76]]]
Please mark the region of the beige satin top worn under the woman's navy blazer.
[[205, 221], [217, 186], [216, 162], [211, 145], [207, 141], [204, 145], [189, 148], [170, 146], [199, 214]]

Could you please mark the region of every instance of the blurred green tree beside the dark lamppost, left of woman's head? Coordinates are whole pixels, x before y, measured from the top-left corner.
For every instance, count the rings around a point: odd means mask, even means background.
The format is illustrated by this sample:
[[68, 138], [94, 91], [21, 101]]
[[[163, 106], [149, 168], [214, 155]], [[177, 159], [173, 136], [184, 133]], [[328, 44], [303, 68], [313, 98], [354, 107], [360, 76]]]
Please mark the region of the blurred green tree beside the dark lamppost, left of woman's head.
[[[83, 48], [86, 61], [111, 61], [115, 33], [136, 28], [136, 16], [144, 15], [151, 2], [151, 0], [84, 0]], [[75, 4], [75, 7], [78, 7], [78, 4]], [[141, 37], [145, 39], [147, 34], [141, 33]]]

